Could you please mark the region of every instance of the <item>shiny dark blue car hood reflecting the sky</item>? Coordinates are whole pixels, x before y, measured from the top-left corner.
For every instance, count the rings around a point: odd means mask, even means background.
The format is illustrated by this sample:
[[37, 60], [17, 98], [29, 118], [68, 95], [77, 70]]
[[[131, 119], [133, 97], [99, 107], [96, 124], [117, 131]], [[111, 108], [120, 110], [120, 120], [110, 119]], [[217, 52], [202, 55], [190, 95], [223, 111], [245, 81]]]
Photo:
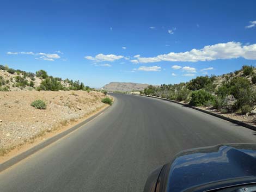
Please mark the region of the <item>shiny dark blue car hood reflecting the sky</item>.
[[209, 183], [221, 187], [223, 181], [256, 182], [255, 176], [256, 144], [196, 148], [179, 153], [170, 163], [167, 191], [190, 191]]

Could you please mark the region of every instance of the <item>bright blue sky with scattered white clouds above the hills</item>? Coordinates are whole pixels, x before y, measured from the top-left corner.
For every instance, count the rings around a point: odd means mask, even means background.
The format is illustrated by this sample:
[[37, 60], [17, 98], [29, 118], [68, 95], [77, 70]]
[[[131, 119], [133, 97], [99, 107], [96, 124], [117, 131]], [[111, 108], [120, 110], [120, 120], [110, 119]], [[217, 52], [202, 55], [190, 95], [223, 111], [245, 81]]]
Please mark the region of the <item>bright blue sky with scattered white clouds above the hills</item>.
[[109, 82], [186, 82], [256, 64], [256, 1], [1, 1], [0, 64]]

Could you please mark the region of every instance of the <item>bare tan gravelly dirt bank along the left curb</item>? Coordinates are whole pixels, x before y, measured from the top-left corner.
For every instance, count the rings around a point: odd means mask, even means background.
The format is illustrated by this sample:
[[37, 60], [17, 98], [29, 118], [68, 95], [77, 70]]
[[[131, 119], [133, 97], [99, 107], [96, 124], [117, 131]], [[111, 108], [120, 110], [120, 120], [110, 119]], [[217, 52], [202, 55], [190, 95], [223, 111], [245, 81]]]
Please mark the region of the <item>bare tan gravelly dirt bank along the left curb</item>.
[[[81, 119], [107, 106], [104, 94], [96, 91], [0, 92], [0, 149], [10, 150]], [[43, 100], [46, 109], [31, 106]]]

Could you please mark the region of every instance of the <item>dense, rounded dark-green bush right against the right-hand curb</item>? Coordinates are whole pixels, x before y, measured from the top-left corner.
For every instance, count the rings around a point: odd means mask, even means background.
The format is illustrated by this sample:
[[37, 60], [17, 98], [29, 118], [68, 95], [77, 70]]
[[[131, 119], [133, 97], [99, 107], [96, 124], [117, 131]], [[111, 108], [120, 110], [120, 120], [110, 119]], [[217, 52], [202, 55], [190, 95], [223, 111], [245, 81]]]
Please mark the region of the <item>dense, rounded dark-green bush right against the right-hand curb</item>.
[[205, 106], [206, 102], [213, 101], [214, 96], [212, 96], [209, 92], [201, 89], [198, 91], [192, 92], [190, 104], [191, 106]]

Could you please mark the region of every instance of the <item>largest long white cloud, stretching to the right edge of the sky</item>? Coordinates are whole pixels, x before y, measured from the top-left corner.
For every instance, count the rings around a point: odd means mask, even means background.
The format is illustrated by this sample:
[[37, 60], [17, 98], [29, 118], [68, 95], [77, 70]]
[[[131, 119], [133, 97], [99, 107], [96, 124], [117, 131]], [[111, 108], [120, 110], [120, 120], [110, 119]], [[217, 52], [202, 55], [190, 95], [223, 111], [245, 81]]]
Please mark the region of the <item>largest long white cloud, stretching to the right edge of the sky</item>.
[[245, 58], [256, 60], [256, 44], [242, 45], [240, 42], [208, 45], [202, 49], [187, 52], [160, 54], [156, 57], [139, 57], [138, 63], [154, 63], [160, 61], [211, 61], [216, 59]]

